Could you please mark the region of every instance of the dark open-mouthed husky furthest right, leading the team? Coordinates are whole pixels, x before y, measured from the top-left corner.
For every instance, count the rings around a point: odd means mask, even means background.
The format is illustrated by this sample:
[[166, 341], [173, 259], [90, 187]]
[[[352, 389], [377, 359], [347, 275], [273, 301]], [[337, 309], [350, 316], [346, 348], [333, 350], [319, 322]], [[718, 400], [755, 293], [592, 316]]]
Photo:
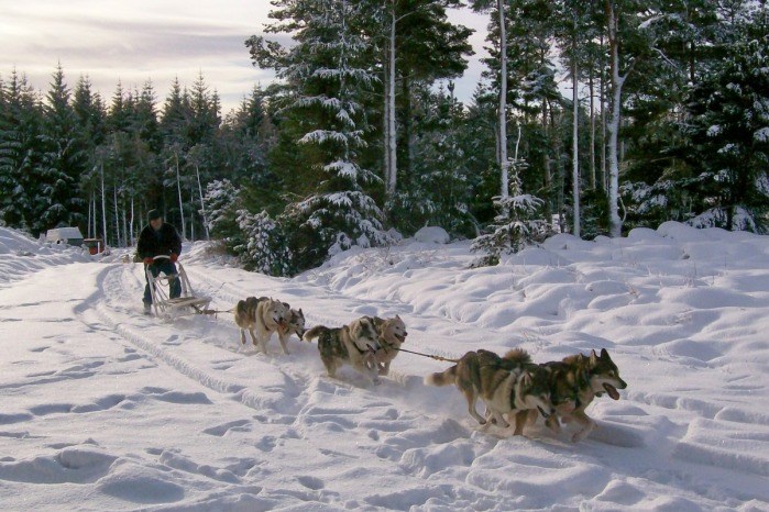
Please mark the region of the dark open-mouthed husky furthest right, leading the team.
[[619, 378], [617, 365], [605, 348], [601, 349], [601, 355], [592, 350], [590, 356], [576, 354], [540, 366], [550, 374], [550, 400], [556, 411], [546, 420], [546, 424], [553, 432], [559, 432], [559, 418], [564, 423], [576, 421], [582, 428], [572, 436], [574, 443], [584, 439], [596, 426], [595, 421], [585, 413], [593, 399], [606, 392], [612, 399], [619, 400], [617, 389], [627, 388], [627, 382]]

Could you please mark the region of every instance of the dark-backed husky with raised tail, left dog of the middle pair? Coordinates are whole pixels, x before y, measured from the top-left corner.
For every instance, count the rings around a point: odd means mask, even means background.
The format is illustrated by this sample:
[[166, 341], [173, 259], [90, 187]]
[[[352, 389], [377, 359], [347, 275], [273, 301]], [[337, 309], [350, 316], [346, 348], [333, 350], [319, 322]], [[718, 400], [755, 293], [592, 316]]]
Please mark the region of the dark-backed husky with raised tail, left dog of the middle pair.
[[349, 325], [327, 327], [317, 325], [301, 337], [305, 342], [318, 338], [320, 359], [329, 377], [336, 378], [342, 365], [350, 365], [358, 371], [378, 382], [380, 365], [376, 352], [381, 348], [376, 326], [372, 319], [363, 316]]

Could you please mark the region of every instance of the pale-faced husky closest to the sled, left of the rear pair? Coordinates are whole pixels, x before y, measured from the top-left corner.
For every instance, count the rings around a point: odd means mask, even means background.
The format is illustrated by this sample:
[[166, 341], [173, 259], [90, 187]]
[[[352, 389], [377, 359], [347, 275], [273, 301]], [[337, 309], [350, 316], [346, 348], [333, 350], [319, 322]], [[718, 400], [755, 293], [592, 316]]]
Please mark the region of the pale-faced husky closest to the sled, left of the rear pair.
[[[272, 334], [285, 324], [288, 308], [285, 303], [267, 297], [259, 299], [249, 297], [238, 302], [234, 313], [235, 323], [240, 327], [241, 344], [245, 345], [245, 331], [248, 330], [254, 346], [267, 354], [267, 342]], [[283, 352], [288, 354], [285, 346]]]

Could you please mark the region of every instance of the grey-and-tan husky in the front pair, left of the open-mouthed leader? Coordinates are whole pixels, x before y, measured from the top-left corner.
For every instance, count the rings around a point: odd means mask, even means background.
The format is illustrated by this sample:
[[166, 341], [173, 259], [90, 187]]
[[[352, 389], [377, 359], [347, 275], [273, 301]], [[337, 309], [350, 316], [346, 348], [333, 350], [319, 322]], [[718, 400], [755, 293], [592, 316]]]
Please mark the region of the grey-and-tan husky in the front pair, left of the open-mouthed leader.
[[[468, 412], [481, 425], [491, 420], [506, 428], [509, 424], [503, 414], [513, 418], [515, 413], [515, 435], [520, 435], [529, 410], [539, 410], [545, 416], [552, 412], [548, 371], [532, 364], [521, 349], [509, 350], [504, 357], [488, 350], [469, 352], [448, 370], [425, 378], [430, 386], [452, 382], [468, 400]], [[487, 418], [475, 409], [479, 398], [486, 403]]]

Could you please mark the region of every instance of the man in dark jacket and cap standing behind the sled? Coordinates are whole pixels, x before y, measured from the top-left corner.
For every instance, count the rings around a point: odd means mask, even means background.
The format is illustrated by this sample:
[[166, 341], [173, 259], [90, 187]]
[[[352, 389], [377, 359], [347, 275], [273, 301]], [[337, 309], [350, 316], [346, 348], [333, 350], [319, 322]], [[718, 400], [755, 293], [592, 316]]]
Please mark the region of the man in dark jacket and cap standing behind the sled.
[[[161, 272], [166, 276], [176, 275], [176, 259], [182, 253], [182, 238], [176, 229], [163, 222], [163, 215], [157, 210], [150, 210], [147, 214], [150, 223], [144, 226], [139, 235], [136, 254], [144, 261], [144, 267], [157, 277]], [[169, 256], [167, 258], [154, 259], [155, 256]], [[171, 279], [171, 290], [168, 297], [175, 299], [182, 294], [182, 285], [178, 279]], [[150, 280], [144, 287], [144, 312], [150, 313], [152, 308], [152, 293], [150, 291]]]

